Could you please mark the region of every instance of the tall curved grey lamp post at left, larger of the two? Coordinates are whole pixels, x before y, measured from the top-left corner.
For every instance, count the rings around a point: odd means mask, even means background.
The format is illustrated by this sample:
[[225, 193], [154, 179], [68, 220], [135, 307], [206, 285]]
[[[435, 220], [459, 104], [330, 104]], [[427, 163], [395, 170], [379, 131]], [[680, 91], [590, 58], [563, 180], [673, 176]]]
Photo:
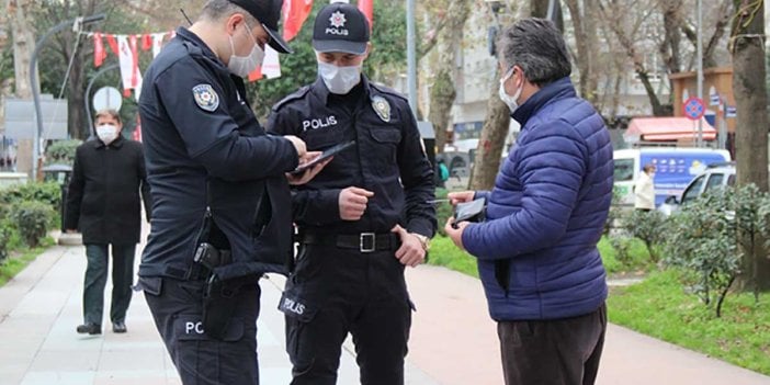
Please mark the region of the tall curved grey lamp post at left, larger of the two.
[[35, 124], [36, 129], [34, 133], [33, 152], [32, 152], [32, 180], [37, 180], [37, 160], [39, 159], [41, 151], [41, 135], [43, 135], [43, 111], [41, 110], [41, 91], [39, 84], [37, 83], [37, 71], [35, 70], [37, 66], [37, 55], [43, 48], [45, 41], [50, 37], [50, 35], [63, 31], [64, 29], [72, 25], [76, 32], [80, 32], [83, 25], [94, 23], [104, 19], [104, 14], [94, 14], [88, 18], [76, 18], [73, 20], [63, 21], [41, 37], [35, 44], [35, 50], [32, 53], [32, 59], [30, 59], [30, 86], [32, 86], [32, 99], [35, 103]]

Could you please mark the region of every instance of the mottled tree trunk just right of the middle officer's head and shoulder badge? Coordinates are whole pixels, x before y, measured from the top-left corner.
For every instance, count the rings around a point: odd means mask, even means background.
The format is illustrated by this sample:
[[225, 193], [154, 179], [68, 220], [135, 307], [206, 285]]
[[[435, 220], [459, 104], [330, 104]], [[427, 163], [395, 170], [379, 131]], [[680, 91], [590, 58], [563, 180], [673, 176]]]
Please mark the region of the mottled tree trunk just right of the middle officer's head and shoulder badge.
[[457, 94], [454, 88], [456, 52], [460, 48], [463, 29], [469, 12], [469, 1], [452, 0], [445, 14], [445, 26], [441, 32], [439, 64], [430, 89], [430, 112], [428, 114], [435, 131], [435, 147], [439, 154], [444, 151], [450, 113]]

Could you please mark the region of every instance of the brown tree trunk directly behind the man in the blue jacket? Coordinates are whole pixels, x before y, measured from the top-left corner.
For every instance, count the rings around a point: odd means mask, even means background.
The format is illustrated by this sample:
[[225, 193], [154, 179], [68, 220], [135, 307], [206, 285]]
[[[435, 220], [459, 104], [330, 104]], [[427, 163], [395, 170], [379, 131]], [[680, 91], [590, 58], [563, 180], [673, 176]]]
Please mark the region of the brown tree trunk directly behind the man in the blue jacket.
[[500, 155], [511, 123], [511, 112], [497, 94], [498, 86], [496, 77], [489, 86], [491, 92], [487, 101], [487, 118], [484, 121], [471, 172], [471, 190], [491, 190], [500, 169]]

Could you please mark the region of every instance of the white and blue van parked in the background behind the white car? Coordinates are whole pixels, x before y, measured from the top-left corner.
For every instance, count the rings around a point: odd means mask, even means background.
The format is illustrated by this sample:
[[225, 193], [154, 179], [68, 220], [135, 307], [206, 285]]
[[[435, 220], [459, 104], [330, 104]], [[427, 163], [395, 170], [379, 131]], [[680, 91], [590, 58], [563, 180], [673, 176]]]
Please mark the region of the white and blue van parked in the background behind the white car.
[[712, 148], [650, 147], [615, 150], [614, 183], [620, 205], [634, 205], [634, 184], [642, 168], [652, 163], [655, 172], [655, 205], [667, 196], [681, 196], [693, 178], [710, 165], [731, 161], [729, 151]]

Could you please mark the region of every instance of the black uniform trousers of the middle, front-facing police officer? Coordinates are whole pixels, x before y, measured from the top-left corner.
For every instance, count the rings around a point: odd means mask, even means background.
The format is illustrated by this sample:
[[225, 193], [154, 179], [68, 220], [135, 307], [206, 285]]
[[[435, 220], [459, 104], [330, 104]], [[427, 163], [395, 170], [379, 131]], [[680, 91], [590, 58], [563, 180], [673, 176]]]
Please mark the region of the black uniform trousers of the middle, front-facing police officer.
[[333, 385], [350, 332], [362, 385], [404, 384], [414, 306], [394, 250], [303, 245], [279, 308], [292, 385]]

